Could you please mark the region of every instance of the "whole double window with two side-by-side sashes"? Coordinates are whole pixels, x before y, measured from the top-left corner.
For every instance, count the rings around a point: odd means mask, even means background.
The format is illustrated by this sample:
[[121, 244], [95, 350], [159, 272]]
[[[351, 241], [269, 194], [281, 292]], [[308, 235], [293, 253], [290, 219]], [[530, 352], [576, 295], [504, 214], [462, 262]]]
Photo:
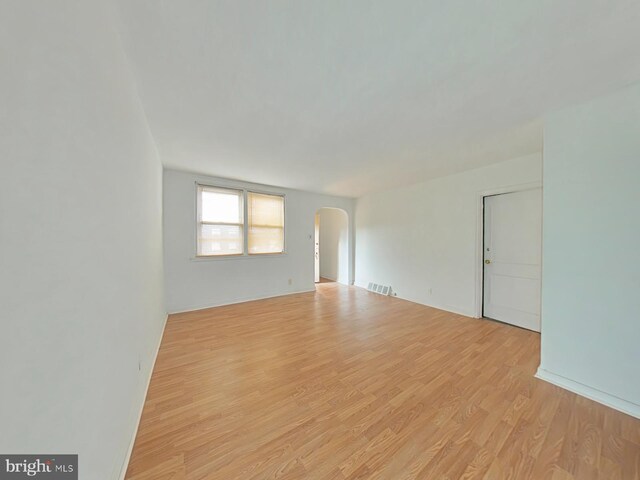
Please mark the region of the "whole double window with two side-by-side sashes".
[[282, 195], [198, 185], [197, 222], [199, 257], [284, 253]]

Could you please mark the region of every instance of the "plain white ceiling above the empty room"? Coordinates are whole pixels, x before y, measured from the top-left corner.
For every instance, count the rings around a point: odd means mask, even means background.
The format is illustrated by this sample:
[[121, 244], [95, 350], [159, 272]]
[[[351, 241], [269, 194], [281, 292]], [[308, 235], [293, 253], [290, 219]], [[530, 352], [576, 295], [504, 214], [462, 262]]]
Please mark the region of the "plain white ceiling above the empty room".
[[541, 151], [640, 80], [638, 0], [121, 0], [168, 167], [346, 196]]

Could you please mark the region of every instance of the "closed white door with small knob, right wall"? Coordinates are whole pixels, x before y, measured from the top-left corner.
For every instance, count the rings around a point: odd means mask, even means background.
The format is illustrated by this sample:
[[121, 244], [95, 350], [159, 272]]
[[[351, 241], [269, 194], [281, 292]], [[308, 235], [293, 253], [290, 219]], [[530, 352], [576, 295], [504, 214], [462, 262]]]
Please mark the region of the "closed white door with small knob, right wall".
[[484, 199], [487, 318], [540, 331], [542, 190]]

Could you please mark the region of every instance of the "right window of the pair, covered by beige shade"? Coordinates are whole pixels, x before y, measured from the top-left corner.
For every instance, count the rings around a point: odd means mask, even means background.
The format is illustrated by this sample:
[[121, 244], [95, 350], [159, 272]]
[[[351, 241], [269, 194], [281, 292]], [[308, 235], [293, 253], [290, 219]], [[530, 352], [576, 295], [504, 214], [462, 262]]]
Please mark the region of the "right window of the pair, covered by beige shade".
[[249, 255], [284, 252], [284, 197], [249, 192]]

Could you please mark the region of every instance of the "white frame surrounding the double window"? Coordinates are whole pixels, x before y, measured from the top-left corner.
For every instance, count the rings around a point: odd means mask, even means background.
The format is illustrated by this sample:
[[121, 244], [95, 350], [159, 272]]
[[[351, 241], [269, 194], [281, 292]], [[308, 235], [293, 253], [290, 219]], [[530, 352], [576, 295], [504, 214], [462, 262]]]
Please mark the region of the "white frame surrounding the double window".
[[[199, 189], [200, 187], [204, 188], [213, 188], [219, 190], [229, 190], [233, 192], [241, 192], [242, 198], [242, 253], [228, 253], [224, 255], [199, 255], [198, 254], [198, 235], [200, 231], [200, 224], [213, 224], [213, 225], [223, 225], [223, 223], [212, 223], [212, 222], [202, 222], [200, 219], [200, 211], [202, 209], [202, 199], [200, 198]], [[249, 207], [248, 207], [248, 194], [256, 193], [259, 195], [271, 195], [274, 197], [282, 197], [283, 200], [283, 209], [284, 209], [284, 225], [283, 225], [283, 251], [276, 253], [249, 253]], [[268, 192], [265, 190], [256, 190], [253, 188], [242, 188], [235, 187], [229, 185], [213, 185], [209, 183], [195, 182], [195, 196], [196, 196], [196, 215], [195, 215], [195, 257], [194, 260], [229, 260], [229, 259], [243, 259], [243, 258], [262, 258], [262, 257], [282, 257], [287, 255], [287, 195], [279, 192]], [[231, 224], [229, 224], [231, 225]], [[233, 224], [237, 225], [237, 224]]]

